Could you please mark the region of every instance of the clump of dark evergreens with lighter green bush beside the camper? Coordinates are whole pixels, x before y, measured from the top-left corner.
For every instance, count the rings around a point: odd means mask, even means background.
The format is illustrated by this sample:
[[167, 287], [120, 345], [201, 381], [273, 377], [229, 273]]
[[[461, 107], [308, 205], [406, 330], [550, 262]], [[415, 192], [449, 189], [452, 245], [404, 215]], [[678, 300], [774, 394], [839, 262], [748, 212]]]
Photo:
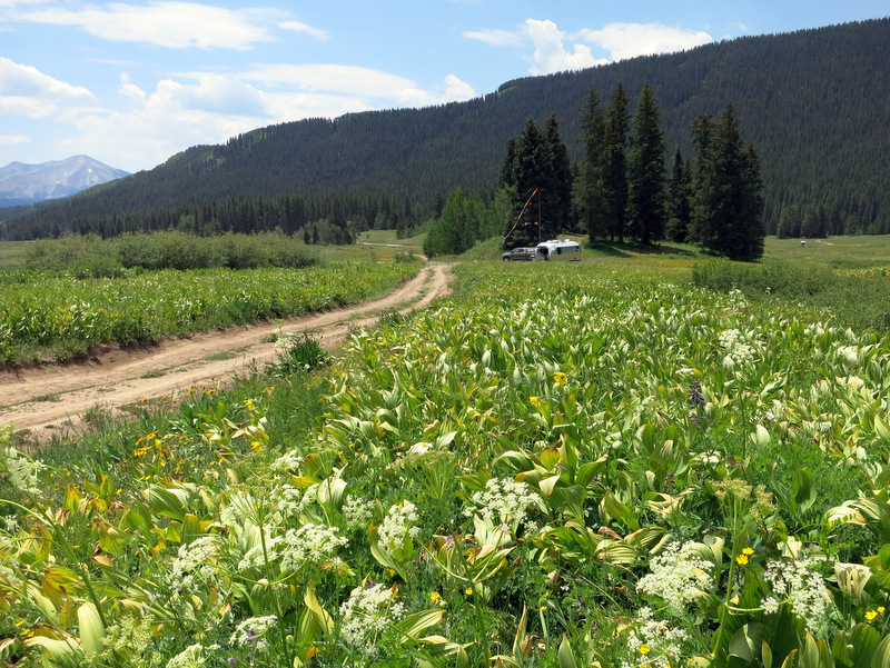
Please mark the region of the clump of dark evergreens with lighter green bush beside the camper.
[[[760, 159], [754, 146], [743, 142], [733, 106], [719, 117], [703, 113], [694, 119], [695, 156], [686, 160], [678, 149], [670, 178], [659, 119], [649, 83], [633, 116], [621, 83], [607, 109], [591, 90], [581, 118], [584, 156], [575, 166], [556, 118], [551, 116], [543, 130], [530, 119], [522, 134], [507, 142], [500, 205], [486, 208], [462, 191], [453, 192], [429, 232], [434, 239], [425, 245], [427, 255], [463, 252], [486, 238], [493, 218], [506, 210], [507, 228], [502, 220], [501, 233], [507, 248], [583, 230], [591, 243], [685, 241], [731, 259], [761, 257], [765, 231]], [[452, 215], [453, 206], [459, 207], [459, 216]]]

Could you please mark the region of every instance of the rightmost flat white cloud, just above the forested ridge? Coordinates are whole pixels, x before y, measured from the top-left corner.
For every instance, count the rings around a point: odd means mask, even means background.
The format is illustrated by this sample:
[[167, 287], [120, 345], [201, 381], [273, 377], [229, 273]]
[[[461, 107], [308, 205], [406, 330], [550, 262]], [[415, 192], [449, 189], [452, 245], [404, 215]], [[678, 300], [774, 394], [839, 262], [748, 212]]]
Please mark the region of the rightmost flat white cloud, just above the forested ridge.
[[681, 30], [660, 23], [609, 23], [602, 30], [581, 30], [577, 37], [609, 51], [612, 60], [671, 53], [714, 41], [704, 31]]

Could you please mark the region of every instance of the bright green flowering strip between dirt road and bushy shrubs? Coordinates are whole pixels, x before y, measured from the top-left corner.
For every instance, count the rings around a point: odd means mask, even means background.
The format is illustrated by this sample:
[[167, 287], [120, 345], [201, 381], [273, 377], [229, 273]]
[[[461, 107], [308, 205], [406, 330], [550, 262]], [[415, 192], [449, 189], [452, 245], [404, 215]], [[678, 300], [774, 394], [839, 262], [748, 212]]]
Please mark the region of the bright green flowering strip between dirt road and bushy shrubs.
[[101, 279], [60, 270], [4, 271], [0, 363], [63, 360], [101, 343], [154, 343], [170, 336], [299, 317], [384, 295], [416, 271], [413, 262], [131, 269]]

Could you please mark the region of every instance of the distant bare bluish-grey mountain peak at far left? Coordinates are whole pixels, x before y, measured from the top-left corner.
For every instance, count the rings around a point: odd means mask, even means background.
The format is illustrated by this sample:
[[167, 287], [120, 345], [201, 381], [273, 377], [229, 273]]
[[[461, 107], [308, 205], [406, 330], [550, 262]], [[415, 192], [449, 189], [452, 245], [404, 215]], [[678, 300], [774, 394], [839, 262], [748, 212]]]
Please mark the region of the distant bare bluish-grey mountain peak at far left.
[[89, 156], [71, 156], [40, 164], [10, 162], [0, 168], [0, 207], [61, 199], [126, 176], [129, 172]]

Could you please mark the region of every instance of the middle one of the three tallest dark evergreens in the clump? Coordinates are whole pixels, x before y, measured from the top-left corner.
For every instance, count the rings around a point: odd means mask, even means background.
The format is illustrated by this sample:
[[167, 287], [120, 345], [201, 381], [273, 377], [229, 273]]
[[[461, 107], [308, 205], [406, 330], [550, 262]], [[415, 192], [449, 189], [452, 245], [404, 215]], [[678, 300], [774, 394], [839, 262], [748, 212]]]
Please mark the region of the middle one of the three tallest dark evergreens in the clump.
[[604, 227], [612, 240], [624, 241], [627, 220], [627, 96], [619, 82], [606, 117], [606, 159], [603, 173]]

